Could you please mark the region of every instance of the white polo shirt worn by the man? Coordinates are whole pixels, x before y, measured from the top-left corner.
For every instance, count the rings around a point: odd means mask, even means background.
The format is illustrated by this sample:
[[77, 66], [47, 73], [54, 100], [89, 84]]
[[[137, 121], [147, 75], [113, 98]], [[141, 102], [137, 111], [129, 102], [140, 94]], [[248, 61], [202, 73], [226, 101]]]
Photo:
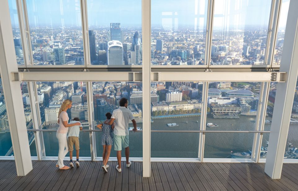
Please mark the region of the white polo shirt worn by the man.
[[135, 119], [132, 115], [131, 110], [126, 107], [119, 107], [113, 111], [112, 117], [115, 119], [115, 135], [129, 135], [128, 132], [128, 123], [130, 120]]

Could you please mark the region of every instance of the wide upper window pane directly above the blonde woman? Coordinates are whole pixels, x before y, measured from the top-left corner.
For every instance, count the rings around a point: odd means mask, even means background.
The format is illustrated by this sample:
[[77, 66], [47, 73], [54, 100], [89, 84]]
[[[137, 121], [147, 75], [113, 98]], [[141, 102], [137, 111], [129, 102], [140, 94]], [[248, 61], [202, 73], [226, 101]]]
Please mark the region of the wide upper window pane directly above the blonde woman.
[[79, 0], [27, 0], [34, 65], [84, 65]]

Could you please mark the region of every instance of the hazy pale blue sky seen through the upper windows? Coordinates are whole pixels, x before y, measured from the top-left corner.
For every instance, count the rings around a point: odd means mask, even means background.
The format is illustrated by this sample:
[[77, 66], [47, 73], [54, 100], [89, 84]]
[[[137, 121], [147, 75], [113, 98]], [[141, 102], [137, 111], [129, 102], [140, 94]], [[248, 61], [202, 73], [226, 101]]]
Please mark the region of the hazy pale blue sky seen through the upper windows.
[[[11, 16], [17, 22], [15, 0], [9, 0]], [[81, 26], [79, 0], [27, 0], [30, 27]], [[207, 0], [151, 0], [151, 23], [163, 28], [206, 25]], [[287, 2], [288, 3], [288, 2]], [[286, 3], [284, 3], [286, 4]], [[271, 0], [216, 0], [215, 28], [268, 25]], [[12, 8], [13, 7], [13, 8]], [[89, 26], [141, 26], [141, 0], [87, 0]], [[287, 12], [286, 6], [282, 7]], [[287, 5], [288, 7], [288, 5]], [[283, 16], [282, 18], [284, 18]], [[281, 19], [282, 19], [281, 18]], [[12, 21], [13, 22], [13, 21]]]

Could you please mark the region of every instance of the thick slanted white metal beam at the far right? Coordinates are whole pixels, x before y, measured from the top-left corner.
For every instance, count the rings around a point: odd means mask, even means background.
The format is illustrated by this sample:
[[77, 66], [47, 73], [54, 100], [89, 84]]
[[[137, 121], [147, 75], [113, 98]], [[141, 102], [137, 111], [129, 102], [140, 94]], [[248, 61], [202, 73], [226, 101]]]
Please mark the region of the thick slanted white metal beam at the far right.
[[280, 71], [287, 72], [286, 83], [278, 83], [273, 110], [265, 173], [279, 179], [282, 173], [292, 103], [298, 75], [298, 1], [290, 1]]

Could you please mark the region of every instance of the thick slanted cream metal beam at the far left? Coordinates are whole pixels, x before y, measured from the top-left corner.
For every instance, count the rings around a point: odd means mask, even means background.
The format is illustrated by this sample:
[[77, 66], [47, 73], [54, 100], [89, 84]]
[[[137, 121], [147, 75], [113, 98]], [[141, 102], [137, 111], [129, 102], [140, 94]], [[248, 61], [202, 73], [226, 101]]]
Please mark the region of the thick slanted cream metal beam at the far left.
[[20, 82], [13, 82], [12, 71], [17, 71], [8, 1], [0, 6], [0, 73], [7, 106], [11, 142], [18, 176], [25, 176], [32, 170]]

